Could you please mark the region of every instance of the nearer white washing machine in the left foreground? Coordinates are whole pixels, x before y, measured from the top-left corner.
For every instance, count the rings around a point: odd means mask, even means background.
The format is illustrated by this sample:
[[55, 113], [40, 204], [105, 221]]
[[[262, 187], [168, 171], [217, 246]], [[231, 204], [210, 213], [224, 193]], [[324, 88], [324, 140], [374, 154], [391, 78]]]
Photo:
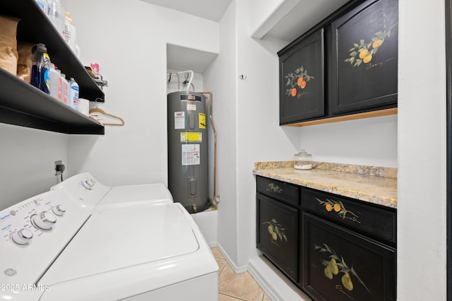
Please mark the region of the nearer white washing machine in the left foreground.
[[68, 191], [0, 211], [1, 300], [218, 300], [218, 265], [179, 203], [101, 210]]

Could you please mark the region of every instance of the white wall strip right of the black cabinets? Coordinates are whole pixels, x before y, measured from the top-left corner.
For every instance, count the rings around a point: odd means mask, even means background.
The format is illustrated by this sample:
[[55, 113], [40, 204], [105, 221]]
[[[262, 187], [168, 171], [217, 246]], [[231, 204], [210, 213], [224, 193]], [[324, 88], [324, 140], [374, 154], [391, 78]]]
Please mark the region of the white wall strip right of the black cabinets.
[[402, 301], [446, 300], [444, 15], [443, 0], [399, 0], [397, 277]]

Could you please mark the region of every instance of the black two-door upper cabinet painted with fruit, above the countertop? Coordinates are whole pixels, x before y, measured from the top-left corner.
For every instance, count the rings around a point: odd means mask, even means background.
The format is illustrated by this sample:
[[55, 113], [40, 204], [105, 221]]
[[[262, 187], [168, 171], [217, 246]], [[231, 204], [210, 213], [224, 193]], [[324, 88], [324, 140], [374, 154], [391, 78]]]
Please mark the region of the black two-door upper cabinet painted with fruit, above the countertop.
[[280, 124], [394, 114], [398, 1], [349, 1], [278, 55]]

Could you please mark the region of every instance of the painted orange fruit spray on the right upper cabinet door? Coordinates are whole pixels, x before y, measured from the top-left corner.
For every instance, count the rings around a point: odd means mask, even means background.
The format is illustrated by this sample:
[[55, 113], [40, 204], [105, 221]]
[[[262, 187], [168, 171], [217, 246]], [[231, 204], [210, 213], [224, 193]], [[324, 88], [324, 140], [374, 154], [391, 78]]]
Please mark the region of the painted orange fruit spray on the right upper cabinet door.
[[[383, 45], [384, 40], [391, 37], [391, 29], [396, 27], [397, 24], [392, 25], [384, 31], [375, 33], [369, 42], [359, 40], [359, 43], [354, 43], [353, 47], [349, 50], [349, 57], [344, 61], [350, 63], [353, 67], [357, 67], [362, 63], [371, 64], [371, 60], [374, 58], [376, 52]], [[381, 64], [382, 62], [379, 62], [375, 66], [381, 66]]]

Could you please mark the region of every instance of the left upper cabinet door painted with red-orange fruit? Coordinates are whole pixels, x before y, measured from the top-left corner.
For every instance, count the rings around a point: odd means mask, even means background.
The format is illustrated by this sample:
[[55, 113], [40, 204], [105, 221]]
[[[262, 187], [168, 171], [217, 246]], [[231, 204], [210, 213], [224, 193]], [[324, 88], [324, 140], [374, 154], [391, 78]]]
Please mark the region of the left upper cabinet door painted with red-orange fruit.
[[280, 124], [324, 114], [323, 29], [280, 54]]

